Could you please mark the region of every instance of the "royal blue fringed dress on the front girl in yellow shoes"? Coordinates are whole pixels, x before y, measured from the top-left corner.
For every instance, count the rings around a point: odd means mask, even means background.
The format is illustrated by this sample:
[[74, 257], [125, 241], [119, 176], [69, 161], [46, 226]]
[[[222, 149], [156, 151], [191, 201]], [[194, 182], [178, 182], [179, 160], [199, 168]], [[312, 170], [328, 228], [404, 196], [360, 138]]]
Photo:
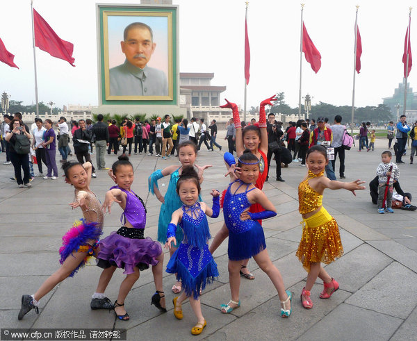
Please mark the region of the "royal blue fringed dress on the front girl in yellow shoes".
[[[188, 215], [186, 212], [188, 206], [182, 207], [183, 217], [179, 226], [183, 230], [184, 239], [172, 255], [166, 269], [170, 274], [177, 273], [177, 279], [182, 282], [187, 296], [193, 294], [194, 299], [198, 299], [200, 289], [204, 290], [207, 283], [213, 283], [219, 276], [217, 264], [208, 251], [207, 242], [211, 235], [207, 217], [199, 202], [197, 204], [198, 207], [195, 208], [198, 211], [197, 219]], [[193, 213], [193, 210], [191, 212]]]

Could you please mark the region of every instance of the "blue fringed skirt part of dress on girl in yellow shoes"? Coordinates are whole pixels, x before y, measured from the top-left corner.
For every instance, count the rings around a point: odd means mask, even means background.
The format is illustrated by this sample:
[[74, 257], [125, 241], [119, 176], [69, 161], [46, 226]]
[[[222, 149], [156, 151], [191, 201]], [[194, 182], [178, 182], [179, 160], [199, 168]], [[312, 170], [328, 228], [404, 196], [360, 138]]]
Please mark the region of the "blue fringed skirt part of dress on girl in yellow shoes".
[[198, 299], [199, 291], [206, 284], [213, 283], [219, 276], [217, 264], [208, 251], [208, 245], [202, 249], [190, 244], [180, 244], [172, 255], [167, 270], [169, 274], [177, 273], [177, 279], [182, 282], [184, 292], [188, 297], [193, 295]]

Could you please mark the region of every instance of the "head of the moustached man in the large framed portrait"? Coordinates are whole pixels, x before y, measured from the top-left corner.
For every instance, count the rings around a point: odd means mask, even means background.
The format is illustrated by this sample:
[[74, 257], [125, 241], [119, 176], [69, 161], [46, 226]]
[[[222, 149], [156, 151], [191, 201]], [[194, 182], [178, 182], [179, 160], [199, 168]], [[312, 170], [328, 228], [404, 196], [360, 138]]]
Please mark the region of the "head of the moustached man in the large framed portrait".
[[127, 32], [126, 40], [120, 42], [122, 51], [126, 55], [131, 65], [143, 69], [152, 53], [155, 51], [156, 44], [152, 42], [152, 35], [145, 27], [132, 27]]

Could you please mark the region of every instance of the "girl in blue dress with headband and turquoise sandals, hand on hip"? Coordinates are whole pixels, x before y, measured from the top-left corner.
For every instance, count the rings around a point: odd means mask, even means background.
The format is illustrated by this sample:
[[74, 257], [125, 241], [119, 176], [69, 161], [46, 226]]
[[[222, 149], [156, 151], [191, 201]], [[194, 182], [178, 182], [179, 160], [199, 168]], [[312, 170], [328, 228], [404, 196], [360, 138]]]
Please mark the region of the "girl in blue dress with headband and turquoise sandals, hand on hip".
[[[281, 274], [268, 256], [262, 226], [257, 222], [277, 215], [275, 207], [266, 195], [254, 185], [259, 177], [259, 159], [247, 149], [240, 156], [238, 167], [240, 167], [239, 178], [229, 184], [223, 204], [224, 222], [229, 229], [227, 253], [231, 300], [227, 304], [222, 304], [222, 313], [228, 314], [240, 307], [240, 266], [242, 260], [253, 257], [277, 289], [281, 301], [281, 317], [289, 317], [293, 310], [291, 306], [293, 293], [285, 290]], [[248, 212], [254, 203], [259, 203], [263, 211]]]

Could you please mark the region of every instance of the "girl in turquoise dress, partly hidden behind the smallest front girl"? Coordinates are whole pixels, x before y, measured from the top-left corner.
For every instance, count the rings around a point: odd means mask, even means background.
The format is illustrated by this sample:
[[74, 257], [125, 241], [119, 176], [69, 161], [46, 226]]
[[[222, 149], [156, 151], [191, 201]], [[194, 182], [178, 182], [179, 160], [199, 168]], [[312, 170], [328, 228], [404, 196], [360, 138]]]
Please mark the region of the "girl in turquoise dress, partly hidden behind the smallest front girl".
[[[201, 184], [203, 182], [204, 170], [211, 167], [211, 165], [199, 167], [195, 164], [195, 159], [197, 158], [197, 146], [193, 141], [181, 142], [178, 146], [178, 156], [179, 162], [181, 163], [180, 167], [171, 165], [162, 170], [158, 169], [156, 172], [152, 173], [148, 179], [149, 191], [152, 194], [155, 194], [156, 198], [162, 203], [158, 219], [158, 242], [163, 244], [165, 244], [167, 240], [167, 226], [170, 224], [172, 213], [182, 206], [181, 199], [177, 193], [177, 181], [183, 172], [183, 168], [195, 167], [199, 183]], [[170, 176], [170, 184], [168, 185], [165, 197], [163, 197], [158, 189], [158, 180], [167, 175]], [[199, 197], [199, 201], [202, 201], [201, 197]], [[176, 238], [177, 242], [181, 243], [183, 238], [181, 228], [177, 230]], [[176, 250], [177, 247], [171, 247], [170, 256], [172, 256]], [[177, 281], [172, 286], [172, 292], [174, 292], [174, 294], [179, 294], [179, 292], [181, 292], [181, 281]]]

